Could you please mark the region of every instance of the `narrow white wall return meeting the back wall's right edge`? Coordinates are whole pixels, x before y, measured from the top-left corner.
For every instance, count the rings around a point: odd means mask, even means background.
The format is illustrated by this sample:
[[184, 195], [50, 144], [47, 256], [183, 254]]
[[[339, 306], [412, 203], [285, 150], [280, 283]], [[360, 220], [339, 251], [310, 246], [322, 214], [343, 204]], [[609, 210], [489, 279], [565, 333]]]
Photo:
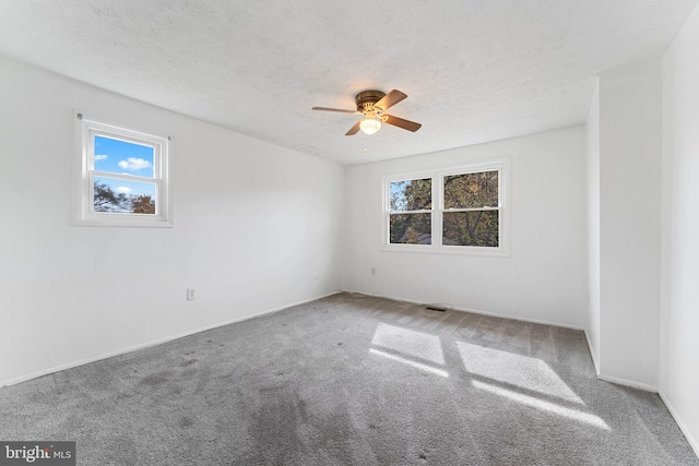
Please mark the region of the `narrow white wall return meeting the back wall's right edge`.
[[600, 80], [588, 111], [588, 343], [600, 370]]

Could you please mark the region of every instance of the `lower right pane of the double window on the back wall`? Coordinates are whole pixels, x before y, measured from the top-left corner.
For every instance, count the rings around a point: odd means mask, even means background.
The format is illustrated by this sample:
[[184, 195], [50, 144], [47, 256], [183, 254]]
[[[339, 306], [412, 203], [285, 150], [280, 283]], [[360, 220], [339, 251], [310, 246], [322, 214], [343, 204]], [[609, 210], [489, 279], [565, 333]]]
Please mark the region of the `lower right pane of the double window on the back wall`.
[[443, 213], [443, 246], [497, 248], [499, 211]]

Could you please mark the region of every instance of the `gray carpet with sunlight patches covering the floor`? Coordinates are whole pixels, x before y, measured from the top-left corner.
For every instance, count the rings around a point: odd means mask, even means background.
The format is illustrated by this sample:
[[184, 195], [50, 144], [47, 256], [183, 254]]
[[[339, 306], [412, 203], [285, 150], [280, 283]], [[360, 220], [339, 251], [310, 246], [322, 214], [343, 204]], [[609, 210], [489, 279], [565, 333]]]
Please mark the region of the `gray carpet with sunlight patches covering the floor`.
[[699, 465], [581, 332], [335, 295], [0, 390], [80, 465]]

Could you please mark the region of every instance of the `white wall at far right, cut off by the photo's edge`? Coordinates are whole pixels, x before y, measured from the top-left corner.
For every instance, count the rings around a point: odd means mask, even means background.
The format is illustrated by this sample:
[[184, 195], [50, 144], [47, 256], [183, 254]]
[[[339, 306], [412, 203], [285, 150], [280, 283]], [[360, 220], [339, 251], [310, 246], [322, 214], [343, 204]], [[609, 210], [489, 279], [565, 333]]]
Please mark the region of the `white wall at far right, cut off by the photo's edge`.
[[662, 69], [660, 393], [699, 455], [699, 8]]

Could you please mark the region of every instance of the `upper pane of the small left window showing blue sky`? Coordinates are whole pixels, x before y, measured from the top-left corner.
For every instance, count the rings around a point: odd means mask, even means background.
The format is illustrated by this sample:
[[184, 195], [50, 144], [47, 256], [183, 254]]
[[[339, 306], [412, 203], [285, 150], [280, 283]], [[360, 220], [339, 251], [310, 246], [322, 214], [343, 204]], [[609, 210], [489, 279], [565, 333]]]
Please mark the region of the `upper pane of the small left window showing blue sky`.
[[95, 170], [153, 178], [154, 148], [95, 135]]

